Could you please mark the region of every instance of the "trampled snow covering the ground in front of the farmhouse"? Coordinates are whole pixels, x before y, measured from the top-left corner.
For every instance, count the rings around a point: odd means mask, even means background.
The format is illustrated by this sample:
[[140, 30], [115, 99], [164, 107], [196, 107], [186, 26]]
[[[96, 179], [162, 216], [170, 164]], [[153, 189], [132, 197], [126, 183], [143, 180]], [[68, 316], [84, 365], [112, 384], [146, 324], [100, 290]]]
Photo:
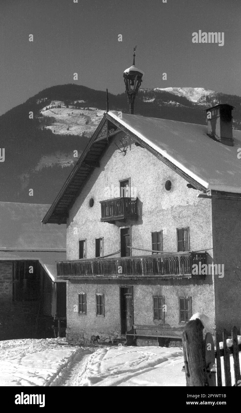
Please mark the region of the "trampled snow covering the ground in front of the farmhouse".
[[[74, 346], [63, 338], [0, 342], [0, 386], [186, 386], [183, 365], [179, 347]], [[221, 366], [224, 384], [223, 357]], [[232, 354], [230, 366], [233, 385]]]

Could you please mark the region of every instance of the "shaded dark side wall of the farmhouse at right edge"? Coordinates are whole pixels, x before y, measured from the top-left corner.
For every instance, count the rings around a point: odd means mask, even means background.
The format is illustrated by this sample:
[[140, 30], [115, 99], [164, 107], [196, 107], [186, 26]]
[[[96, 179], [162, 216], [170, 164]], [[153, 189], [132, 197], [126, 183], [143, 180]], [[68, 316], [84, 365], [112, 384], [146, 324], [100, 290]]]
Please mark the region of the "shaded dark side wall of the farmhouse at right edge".
[[212, 199], [212, 209], [214, 262], [224, 264], [224, 277], [214, 275], [216, 324], [230, 332], [241, 327], [241, 201]]

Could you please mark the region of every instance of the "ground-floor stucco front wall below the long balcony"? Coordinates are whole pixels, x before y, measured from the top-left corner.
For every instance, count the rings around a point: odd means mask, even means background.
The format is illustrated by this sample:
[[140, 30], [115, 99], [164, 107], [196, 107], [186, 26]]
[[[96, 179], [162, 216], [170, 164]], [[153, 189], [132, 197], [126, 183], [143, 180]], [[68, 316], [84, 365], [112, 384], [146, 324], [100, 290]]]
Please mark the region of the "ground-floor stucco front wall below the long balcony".
[[[195, 280], [161, 281], [158, 285], [149, 285], [131, 281], [133, 286], [134, 323], [156, 325], [153, 318], [153, 295], [164, 296], [166, 305], [165, 323], [178, 327], [179, 297], [191, 297], [192, 314], [205, 313], [214, 328], [214, 300], [212, 285]], [[120, 286], [121, 282], [112, 284], [91, 284], [68, 282], [67, 287], [67, 330], [66, 338], [74, 342], [89, 342], [92, 335], [99, 335], [101, 340], [113, 339], [121, 335], [120, 321]], [[78, 293], [86, 293], [87, 314], [78, 313]], [[105, 316], [96, 316], [96, 295], [104, 294]]]

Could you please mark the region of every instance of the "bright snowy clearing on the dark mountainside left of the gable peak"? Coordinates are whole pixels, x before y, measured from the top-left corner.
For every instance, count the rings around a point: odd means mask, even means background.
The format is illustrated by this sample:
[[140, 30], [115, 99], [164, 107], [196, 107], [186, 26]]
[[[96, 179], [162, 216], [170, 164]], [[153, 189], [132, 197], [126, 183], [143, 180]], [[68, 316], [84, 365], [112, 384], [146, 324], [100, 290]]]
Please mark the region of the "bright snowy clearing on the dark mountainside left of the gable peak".
[[[80, 101], [79, 101], [80, 102]], [[60, 105], [61, 108], [55, 106]], [[64, 102], [53, 101], [47, 107], [41, 110], [43, 116], [54, 117], [55, 121], [52, 125], [46, 126], [53, 133], [67, 135], [81, 135], [83, 132], [86, 136], [91, 136], [99, 122], [102, 120], [104, 110], [89, 107], [87, 109], [77, 109], [74, 106], [66, 108]], [[69, 128], [69, 130], [67, 130]]]

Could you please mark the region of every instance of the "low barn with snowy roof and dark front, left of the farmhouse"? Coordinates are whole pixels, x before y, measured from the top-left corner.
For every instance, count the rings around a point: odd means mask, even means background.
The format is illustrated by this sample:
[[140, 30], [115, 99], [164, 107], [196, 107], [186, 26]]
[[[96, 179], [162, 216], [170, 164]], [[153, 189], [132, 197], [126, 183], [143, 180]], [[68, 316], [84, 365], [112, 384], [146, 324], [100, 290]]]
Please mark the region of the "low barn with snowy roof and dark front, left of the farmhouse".
[[54, 337], [66, 320], [66, 229], [41, 224], [49, 207], [0, 202], [0, 339]]

